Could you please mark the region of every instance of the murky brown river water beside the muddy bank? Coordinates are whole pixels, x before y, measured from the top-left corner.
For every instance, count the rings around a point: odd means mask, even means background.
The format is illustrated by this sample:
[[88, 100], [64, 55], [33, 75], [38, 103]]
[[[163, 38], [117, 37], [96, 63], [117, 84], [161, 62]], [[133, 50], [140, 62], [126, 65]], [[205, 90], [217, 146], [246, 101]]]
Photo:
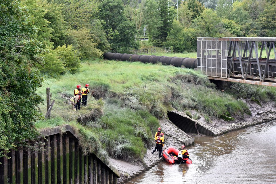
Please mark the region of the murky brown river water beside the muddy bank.
[[218, 137], [196, 137], [192, 164], [164, 160], [131, 183], [276, 183], [276, 121]]

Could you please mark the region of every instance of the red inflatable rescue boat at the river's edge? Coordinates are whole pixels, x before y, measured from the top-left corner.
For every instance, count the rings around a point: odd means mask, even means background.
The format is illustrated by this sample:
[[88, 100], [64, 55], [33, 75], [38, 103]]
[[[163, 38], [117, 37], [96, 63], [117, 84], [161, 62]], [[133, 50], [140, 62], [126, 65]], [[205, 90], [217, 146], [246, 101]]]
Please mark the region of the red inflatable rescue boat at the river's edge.
[[186, 163], [191, 164], [192, 161], [189, 158], [183, 158], [183, 155], [181, 154], [181, 151], [173, 148], [168, 147], [163, 151], [163, 158], [169, 163], [169, 164], [175, 164], [177, 163]]

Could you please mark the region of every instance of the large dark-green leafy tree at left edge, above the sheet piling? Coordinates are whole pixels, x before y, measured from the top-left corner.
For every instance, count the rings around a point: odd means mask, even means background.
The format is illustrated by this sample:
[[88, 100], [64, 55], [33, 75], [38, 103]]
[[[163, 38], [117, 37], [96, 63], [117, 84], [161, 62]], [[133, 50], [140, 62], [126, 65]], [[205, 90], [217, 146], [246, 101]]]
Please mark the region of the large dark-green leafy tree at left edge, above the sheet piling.
[[26, 8], [18, 1], [0, 5], [0, 157], [26, 139], [35, 139], [41, 117], [36, 93], [42, 78], [35, 68], [42, 44]]

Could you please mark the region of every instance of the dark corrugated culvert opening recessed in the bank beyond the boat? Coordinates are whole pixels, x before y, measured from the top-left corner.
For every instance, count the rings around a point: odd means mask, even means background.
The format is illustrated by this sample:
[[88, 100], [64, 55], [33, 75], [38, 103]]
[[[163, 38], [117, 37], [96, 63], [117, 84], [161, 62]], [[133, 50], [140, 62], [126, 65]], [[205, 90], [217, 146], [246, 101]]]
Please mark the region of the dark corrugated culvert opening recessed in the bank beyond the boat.
[[178, 128], [183, 130], [185, 133], [200, 133], [208, 136], [215, 136], [215, 134], [204, 127], [204, 125], [199, 124], [199, 122], [192, 120], [189, 116], [181, 114], [181, 112], [170, 111], [168, 112], [168, 118], [173, 122]]

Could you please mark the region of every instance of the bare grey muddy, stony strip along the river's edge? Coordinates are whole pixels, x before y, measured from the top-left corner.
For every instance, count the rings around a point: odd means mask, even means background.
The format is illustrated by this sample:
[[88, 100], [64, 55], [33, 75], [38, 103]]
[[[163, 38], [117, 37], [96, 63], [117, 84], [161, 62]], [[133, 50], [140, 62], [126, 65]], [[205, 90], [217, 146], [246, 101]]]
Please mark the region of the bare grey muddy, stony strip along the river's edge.
[[[256, 104], [254, 101], [244, 100], [248, 104], [250, 111], [252, 114], [243, 115], [239, 117], [235, 117], [235, 120], [227, 122], [222, 119], [213, 118], [209, 123], [207, 123], [203, 116], [200, 117], [199, 121], [201, 124], [205, 124], [210, 127], [213, 131], [223, 134], [230, 131], [234, 131], [237, 129], [249, 127], [255, 124], [260, 124], [264, 122], [268, 122], [276, 119], [276, 107], [275, 103], [267, 103], [261, 104], [262, 106]], [[193, 111], [191, 111], [193, 113]], [[185, 144], [189, 149], [189, 145], [187, 142], [191, 142], [194, 136], [204, 136], [199, 134], [186, 134], [184, 131], [179, 129], [175, 124], [173, 124], [170, 120], [164, 119], [159, 120], [162, 131], [165, 134], [165, 146], [167, 147], [175, 147], [177, 149], [181, 149], [181, 145]], [[153, 140], [154, 141], [154, 140]], [[132, 178], [138, 176], [140, 173], [149, 170], [154, 165], [162, 160], [162, 158], [158, 158], [159, 152], [155, 152], [152, 154], [152, 150], [154, 146], [147, 150], [147, 153], [144, 157], [144, 163], [142, 162], [124, 162], [122, 160], [110, 159], [112, 165], [118, 169], [121, 173], [121, 177], [118, 179], [117, 183], [125, 183]], [[164, 150], [163, 149], [163, 150]]]

